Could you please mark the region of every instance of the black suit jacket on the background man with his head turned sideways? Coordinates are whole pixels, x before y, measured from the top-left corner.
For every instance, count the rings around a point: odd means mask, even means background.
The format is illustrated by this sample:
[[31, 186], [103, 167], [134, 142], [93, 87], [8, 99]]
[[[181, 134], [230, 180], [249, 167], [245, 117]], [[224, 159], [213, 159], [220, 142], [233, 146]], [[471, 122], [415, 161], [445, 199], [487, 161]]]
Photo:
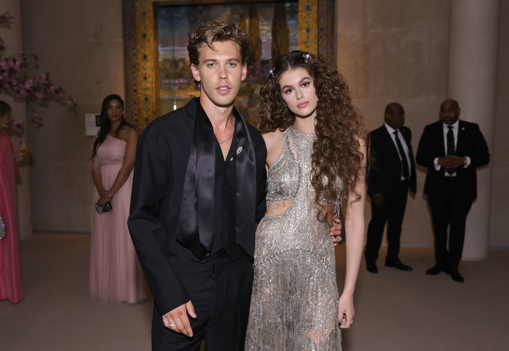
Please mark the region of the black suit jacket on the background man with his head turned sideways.
[[[401, 127], [401, 135], [408, 147], [410, 158], [410, 191], [415, 194], [415, 163], [412, 151], [412, 132], [408, 127]], [[376, 193], [382, 193], [384, 199], [391, 200], [398, 194], [401, 183], [401, 159], [398, 155], [398, 148], [392, 141], [389, 131], [382, 125], [368, 134], [370, 141], [370, 152], [373, 156], [373, 166], [367, 174], [367, 194], [373, 197]]]

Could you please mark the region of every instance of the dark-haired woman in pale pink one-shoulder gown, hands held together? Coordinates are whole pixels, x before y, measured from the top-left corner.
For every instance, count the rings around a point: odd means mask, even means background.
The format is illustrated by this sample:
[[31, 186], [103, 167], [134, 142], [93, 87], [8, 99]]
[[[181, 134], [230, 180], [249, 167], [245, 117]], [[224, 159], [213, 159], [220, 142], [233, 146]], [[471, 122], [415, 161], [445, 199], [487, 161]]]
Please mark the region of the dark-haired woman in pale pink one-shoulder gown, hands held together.
[[124, 119], [124, 101], [102, 102], [101, 129], [92, 148], [90, 296], [101, 303], [136, 304], [149, 298], [127, 229], [138, 132]]

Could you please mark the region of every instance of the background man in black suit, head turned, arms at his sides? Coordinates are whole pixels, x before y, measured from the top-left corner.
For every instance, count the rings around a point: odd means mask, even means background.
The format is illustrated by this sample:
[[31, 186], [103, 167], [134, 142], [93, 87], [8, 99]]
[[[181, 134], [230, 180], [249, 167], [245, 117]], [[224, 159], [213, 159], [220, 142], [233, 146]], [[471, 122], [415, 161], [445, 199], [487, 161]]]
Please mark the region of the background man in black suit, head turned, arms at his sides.
[[405, 124], [405, 110], [399, 103], [385, 107], [385, 123], [369, 133], [374, 162], [367, 175], [367, 194], [371, 197], [372, 219], [367, 227], [364, 257], [366, 269], [378, 273], [376, 260], [387, 222], [387, 256], [385, 265], [402, 271], [412, 267], [403, 264], [400, 252], [401, 224], [407, 205], [408, 190], [415, 193], [415, 165], [412, 133]]

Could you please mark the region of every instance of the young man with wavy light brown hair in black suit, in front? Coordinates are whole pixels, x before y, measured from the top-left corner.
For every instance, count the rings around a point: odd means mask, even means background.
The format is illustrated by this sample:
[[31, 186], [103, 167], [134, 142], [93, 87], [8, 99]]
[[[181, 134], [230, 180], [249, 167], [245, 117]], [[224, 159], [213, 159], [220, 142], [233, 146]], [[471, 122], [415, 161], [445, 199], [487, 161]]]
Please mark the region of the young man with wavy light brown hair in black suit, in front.
[[267, 182], [263, 138], [234, 107], [250, 45], [234, 22], [191, 31], [200, 97], [138, 140], [128, 226], [154, 296], [153, 350], [244, 349]]

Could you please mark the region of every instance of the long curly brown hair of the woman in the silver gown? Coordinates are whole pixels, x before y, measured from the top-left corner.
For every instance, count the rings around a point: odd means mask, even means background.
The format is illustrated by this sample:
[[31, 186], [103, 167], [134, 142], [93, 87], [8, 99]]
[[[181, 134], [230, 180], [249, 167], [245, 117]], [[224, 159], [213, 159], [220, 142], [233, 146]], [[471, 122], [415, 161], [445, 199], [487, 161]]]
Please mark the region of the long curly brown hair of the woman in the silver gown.
[[[366, 131], [352, 106], [345, 78], [318, 56], [294, 50], [275, 61], [267, 83], [260, 89], [258, 129], [262, 133], [285, 131], [295, 123], [295, 115], [282, 99], [279, 78], [296, 68], [304, 68], [312, 76], [318, 97], [310, 180], [316, 202], [325, 205], [322, 215], [328, 218], [336, 199], [351, 193], [352, 203], [360, 200], [355, 184], [365, 177], [365, 159], [359, 151], [359, 138], [365, 140]], [[337, 178], [344, 184], [341, 191], [335, 181], [327, 181]]]

